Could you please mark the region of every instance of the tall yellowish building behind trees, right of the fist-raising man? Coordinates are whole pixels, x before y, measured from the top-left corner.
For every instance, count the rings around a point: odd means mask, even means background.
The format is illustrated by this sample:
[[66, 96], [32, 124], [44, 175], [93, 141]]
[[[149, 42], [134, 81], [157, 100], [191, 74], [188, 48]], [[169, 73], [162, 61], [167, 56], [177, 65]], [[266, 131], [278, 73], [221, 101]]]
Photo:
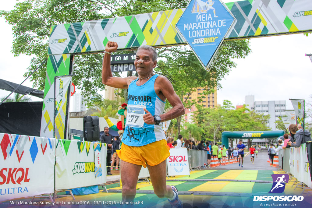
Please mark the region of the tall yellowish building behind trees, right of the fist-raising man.
[[[197, 101], [197, 104], [202, 105], [204, 108], [214, 108], [217, 107], [217, 88], [215, 88], [215, 92], [211, 93], [209, 95], [205, 95], [204, 98], [202, 98], [202, 101], [199, 101], [198, 97], [201, 97], [203, 94], [202, 92], [205, 89], [198, 88], [195, 92], [191, 93], [188, 99], [193, 100], [195, 99]], [[185, 100], [187, 96], [185, 96], [183, 99]], [[184, 114], [185, 122], [193, 123], [193, 112], [197, 111], [197, 108], [193, 105], [191, 108], [187, 109]]]

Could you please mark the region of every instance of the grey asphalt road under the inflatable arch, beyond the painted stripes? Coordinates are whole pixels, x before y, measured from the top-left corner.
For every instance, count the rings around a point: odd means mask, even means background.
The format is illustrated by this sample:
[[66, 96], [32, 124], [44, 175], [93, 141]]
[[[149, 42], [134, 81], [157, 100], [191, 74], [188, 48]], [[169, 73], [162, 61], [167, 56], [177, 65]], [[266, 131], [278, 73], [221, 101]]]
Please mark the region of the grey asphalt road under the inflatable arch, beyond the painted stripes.
[[[246, 151], [246, 150], [245, 150]], [[209, 169], [212, 170], [272, 170], [275, 171], [276, 168], [270, 166], [270, 164], [267, 162], [268, 159], [268, 153], [267, 149], [263, 149], [262, 151], [258, 152], [258, 157], [255, 156], [254, 164], [251, 162], [251, 157], [250, 154], [246, 156], [245, 152], [245, 157], [244, 157], [244, 162], [243, 162], [243, 167], [238, 166], [237, 163], [233, 164], [228, 164], [225, 166], [218, 166], [218, 167], [211, 167]]]

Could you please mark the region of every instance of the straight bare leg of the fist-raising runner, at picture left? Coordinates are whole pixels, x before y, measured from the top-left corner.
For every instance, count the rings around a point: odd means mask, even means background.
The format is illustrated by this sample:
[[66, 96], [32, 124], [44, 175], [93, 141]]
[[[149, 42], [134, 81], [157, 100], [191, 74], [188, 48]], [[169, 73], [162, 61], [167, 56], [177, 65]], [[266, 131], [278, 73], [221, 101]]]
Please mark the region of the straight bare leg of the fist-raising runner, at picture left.
[[136, 185], [142, 165], [135, 165], [120, 159], [120, 177], [122, 181], [122, 200], [133, 201]]

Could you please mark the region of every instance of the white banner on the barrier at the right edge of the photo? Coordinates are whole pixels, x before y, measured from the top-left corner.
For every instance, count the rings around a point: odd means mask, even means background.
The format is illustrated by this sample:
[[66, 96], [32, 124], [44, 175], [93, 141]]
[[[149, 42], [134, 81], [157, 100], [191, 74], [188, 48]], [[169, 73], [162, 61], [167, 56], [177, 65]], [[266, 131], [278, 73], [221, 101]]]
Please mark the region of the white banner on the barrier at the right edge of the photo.
[[293, 174], [298, 181], [304, 182], [307, 186], [312, 188], [307, 148], [305, 143], [302, 144], [299, 148], [290, 148], [289, 164], [290, 173]]

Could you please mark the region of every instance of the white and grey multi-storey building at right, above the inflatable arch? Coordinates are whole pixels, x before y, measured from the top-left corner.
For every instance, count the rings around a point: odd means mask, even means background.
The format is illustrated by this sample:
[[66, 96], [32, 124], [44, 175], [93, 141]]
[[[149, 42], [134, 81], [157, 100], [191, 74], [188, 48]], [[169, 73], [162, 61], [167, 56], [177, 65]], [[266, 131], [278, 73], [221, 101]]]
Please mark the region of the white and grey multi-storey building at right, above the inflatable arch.
[[275, 121], [279, 120], [279, 117], [286, 116], [286, 101], [285, 100], [271, 100], [271, 101], [255, 101], [256, 113], [264, 115], [270, 115], [268, 126], [272, 130], [276, 130]]

